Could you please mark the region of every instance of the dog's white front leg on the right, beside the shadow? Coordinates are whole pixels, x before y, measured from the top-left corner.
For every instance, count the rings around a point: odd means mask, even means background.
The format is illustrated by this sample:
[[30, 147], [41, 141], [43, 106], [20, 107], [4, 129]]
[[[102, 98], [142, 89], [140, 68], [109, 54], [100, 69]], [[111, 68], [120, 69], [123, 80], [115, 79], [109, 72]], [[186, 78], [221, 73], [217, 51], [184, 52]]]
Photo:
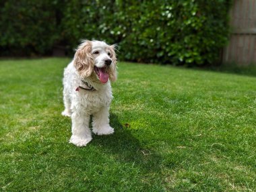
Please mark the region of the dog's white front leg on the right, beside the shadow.
[[114, 129], [109, 125], [109, 107], [102, 107], [92, 117], [92, 132], [97, 135], [113, 134]]

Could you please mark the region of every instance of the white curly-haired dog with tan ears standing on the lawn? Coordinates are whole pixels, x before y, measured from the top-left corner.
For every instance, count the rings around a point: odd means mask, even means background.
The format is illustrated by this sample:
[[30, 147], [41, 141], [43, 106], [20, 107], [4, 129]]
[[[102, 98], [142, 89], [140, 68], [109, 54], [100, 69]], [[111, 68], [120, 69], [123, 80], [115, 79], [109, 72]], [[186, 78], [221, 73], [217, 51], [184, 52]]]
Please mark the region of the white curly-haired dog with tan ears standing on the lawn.
[[85, 40], [75, 52], [73, 60], [64, 70], [61, 113], [71, 116], [72, 136], [69, 142], [86, 146], [92, 140], [89, 129], [98, 135], [113, 134], [109, 126], [109, 106], [113, 99], [110, 81], [117, 79], [115, 46], [105, 42]]

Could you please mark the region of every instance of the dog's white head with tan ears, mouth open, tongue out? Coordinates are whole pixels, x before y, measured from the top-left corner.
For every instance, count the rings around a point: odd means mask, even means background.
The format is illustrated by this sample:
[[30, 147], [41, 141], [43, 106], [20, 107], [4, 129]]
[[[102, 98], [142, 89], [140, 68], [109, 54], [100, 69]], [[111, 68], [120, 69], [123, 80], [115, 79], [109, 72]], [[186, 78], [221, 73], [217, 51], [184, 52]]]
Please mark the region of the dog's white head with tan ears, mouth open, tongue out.
[[117, 79], [115, 45], [85, 40], [75, 52], [74, 65], [82, 78], [92, 77], [101, 83]]

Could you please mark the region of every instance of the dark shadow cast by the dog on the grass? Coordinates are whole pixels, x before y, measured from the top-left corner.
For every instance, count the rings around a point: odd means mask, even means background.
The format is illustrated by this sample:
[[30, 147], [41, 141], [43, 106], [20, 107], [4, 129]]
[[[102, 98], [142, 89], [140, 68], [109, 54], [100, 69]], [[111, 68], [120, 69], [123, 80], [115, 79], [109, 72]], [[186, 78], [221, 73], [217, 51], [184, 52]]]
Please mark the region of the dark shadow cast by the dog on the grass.
[[146, 145], [142, 146], [139, 140], [131, 134], [131, 129], [127, 128], [129, 125], [122, 125], [115, 113], [110, 113], [110, 126], [115, 128], [115, 134], [94, 135], [92, 144], [100, 146], [103, 152], [112, 154], [117, 161], [131, 162], [146, 171], [160, 171], [161, 156]]

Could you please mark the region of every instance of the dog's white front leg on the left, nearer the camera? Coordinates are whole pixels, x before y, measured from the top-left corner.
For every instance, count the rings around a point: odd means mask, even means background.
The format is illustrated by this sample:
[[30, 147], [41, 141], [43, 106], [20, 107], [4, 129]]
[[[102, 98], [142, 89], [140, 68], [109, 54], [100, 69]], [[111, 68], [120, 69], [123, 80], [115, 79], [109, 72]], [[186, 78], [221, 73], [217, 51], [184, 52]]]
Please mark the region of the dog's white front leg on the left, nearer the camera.
[[92, 134], [89, 129], [90, 115], [73, 111], [71, 119], [72, 136], [69, 142], [76, 146], [86, 146], [92, 140]]

